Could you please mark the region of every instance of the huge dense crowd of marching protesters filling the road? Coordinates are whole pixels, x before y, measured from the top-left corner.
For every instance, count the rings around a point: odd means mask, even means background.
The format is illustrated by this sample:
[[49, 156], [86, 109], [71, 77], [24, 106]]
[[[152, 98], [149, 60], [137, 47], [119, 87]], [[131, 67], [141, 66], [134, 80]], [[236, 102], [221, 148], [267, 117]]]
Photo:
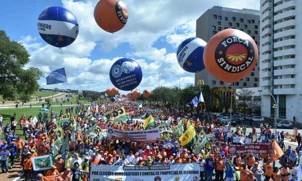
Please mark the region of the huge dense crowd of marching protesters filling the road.
[[[124, 106], [129, 119], [124, 122], [106, 122], [103, 117], [108, 110]], [[41, 114], [41, 113], [39, 113]], [[54, 130], [58, 126], [56, 120], [64, 114], [70, 114], [70, 120], [74, 120], [80, 126], [74, 134], [74, 138], [68, 142], [69, 148], [54, 153]], [[157, 119], [157, 125], [162, 121], [167, 122], [167, 129], [173, 130], [178, 124], [182, 124], [184, 130], [188, 125], [195, 125], [198, 134], [212, 135], [217, 140], [224, 141], [225, 145], [234, 143], [236, 137], [240, 137], [237, 144], [251, 142], [271, 142], [277, 140], [285, 154], [279, 158], [281, 167], [274, 167], [270, 154], [237, 154], [231, 155], [222, 147], [205, 145], [198, 152], [193, 152], [195, 145], [182, 147], [178, 137], [173, 131], [163, 134], [163, 139], [172, 142], [173, 145], [164, 146], [163, 143], [138, 143], [129, 140], [110, 140], [100, 135], [86, 134], [94, 124], [102, 129], [115, 128], [119, 130], [142, 130], [143, 122], [132, 119], [152, 114]], [[20, 118], [12, 115], [11, 123], [3, 124], [0, 115], [0, 124], [5, 135], [0, 147], [2, 172], [8, 172], [15, 167], [15, 159], [21, 161], [25, 180], [41, 180], [43, 176], [56, 175], [55, 180], [89, 180], [89, 171], [93, 165], [158, 165], [158, 164], [186, 164], [196, 163], [200, 165], [200, 180], [236, 180], [235, 171], [240, 172], [240, 180], [296, 180], [296, 166], [301, 154], [300, 144], [295, 149], [284, 146], [284, 132], [277, 135], [272, 133], [270, 127], [260, 125], [260, 133], [253, 127], [252, 132], [247, 133], [246, 128], [237, 125], [236, 130], [229, 129], [228, 125], [221, 125], [215, 117], [199, 120], [193, 115], [187, 117], [184, 112], [174, 112], [166, 108], [138, 106], [136, 102], [109, 101], [97, 104], [78, 104], [56, 114], [51, 112], [51, 118], [47, 121], [41, 119], [33, 122], [32, 116], [23, 114]], [[18, 120], [18, 122], [16, 121]], [[17, 125], [23, 130], [25, 140], [15, 136]], [[71, 137], [71, 125], [65, 122], [61, 125], [63, 136]], [[155, 127], [156, 127], [155, 126]], [[153, 127], [153, 128], [155, 128]], [[150, 128], [150, 129], [153, 129]], [[203, 131], [201, 131], [203, 130]], [[259, 130], [259, 129], [258, 129]], [[299, 136], [299, 135], [298, 135]], [[52, 154], [54, 164], [51, 169], [42, 174], [34, 174], [32, 157]], [[10, 165], [9, 165], [10, 162]], [[262, 165], [261, 165], [262, 163]], [[36, 176], [34, 176], [36, 175]]]

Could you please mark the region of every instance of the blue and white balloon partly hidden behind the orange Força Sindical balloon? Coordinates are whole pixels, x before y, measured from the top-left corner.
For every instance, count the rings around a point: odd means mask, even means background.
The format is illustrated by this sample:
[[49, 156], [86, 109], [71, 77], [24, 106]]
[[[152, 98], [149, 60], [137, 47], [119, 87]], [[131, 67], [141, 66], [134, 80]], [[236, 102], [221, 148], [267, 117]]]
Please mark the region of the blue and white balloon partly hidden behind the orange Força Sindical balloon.
[[199, 72], [205, 68], [203, 50], [206, 42], [200, 38], [188, 38], [177, 49], [178, 64], [188, 72]]

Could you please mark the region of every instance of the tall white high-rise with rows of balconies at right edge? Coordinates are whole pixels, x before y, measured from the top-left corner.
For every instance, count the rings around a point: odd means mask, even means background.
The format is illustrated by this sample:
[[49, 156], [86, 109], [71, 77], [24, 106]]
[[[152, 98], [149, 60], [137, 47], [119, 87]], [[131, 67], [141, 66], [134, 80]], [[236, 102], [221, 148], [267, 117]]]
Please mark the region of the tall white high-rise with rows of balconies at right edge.
[[[261, 0], [260, 12], [260, 89], [277, 118], [301, 122], [302, 1]], [[263, 92], [262, 115], [274, 117]]]

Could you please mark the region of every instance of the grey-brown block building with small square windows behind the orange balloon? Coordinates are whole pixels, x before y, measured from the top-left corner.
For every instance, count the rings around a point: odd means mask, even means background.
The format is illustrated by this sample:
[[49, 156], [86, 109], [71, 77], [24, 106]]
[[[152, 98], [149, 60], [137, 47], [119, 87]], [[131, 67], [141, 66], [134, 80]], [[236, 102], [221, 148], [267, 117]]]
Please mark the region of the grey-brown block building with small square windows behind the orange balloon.
[[[208, 41], [217, 32], [234, 28], [249, 34], [256, 42], [259, 48], [259, 11], [249, 9], [231, 9], [214, 6], [207, 10], [196, 21], [196, 37]], [[210, 87], [229, 86], [227, 83], [214, 78], [206, 69], [195, 73], [195, 85], [198, 80], [203, 79], [204, 84]], [[233, 88], [248, 88], [259, 86], [259, 63], [253, 71], [233, 83]]]

